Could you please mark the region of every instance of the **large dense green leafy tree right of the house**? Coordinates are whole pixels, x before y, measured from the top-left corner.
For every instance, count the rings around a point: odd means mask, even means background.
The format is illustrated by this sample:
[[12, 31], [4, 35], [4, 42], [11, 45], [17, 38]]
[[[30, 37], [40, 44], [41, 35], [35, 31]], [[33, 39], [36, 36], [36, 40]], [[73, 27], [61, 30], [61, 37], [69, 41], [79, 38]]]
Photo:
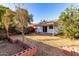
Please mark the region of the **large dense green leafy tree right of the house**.
[[61, 31], [71, 39], [79, 37], [79, 8], [66, 8], [59, 17]]

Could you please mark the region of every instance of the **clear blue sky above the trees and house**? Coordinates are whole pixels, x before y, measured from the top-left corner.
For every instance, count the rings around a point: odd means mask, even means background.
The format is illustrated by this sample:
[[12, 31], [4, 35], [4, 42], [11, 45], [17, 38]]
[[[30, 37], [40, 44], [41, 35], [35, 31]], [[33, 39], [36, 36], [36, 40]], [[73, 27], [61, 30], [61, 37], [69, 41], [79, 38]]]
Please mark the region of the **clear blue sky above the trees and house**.
[[[15, 5], [12, 3], [2, 4], [6, 7], [15, 10]], [[38, 23], [45, 19], [47, 21], [58, 19], [60, 13], [72, 4], [68, 3], [26, 3], [23, 8], [33, 14], [34, 22]], [[75, 5], [75, 4], [73, 4]]]

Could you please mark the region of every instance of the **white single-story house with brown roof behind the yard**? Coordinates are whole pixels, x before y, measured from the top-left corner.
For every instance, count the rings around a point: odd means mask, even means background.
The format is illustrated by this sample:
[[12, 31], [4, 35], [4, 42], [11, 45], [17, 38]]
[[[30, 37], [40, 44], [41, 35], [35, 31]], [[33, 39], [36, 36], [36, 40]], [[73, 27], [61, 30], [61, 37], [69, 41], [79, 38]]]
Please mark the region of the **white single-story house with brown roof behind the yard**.
[[59, 34], [57, 21], [40, 22], [35, 26], [37, 33]]

